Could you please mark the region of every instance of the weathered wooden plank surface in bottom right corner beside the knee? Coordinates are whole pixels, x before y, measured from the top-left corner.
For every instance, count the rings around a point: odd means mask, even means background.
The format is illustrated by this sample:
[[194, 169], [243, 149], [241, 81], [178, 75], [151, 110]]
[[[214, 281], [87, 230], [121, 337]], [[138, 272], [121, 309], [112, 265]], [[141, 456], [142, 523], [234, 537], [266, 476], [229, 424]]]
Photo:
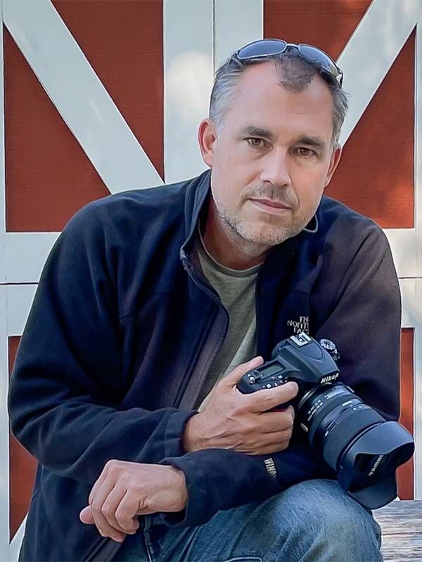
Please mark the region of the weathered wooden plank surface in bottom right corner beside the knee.
[[383, 530], [385, 561], [422, 562], [422, 500], [391, 502], [373, 516]]

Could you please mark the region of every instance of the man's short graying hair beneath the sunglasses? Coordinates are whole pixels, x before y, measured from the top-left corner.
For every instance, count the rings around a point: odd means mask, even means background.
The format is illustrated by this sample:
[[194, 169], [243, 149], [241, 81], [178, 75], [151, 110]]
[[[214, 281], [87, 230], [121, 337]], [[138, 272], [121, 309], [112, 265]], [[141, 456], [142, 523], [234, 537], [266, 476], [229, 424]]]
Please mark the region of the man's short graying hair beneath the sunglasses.
[[210, 99], [210, 119], [217, 126], [222, 127], [224, 115], [233, 102], [234, 90], [241, 74], [250, 65], [258, 65], [274, 61], [279, 72], [280, 84], [293, 91], [302, 91], [311, 83], [314, 76], [321, 76], [333, 94], [333, 146], [338, 145], [340, 129], [347, 112], [347, 95], [335, 78], [327, 74], [319, 63], [314, 63], [302, 56], [299, 51], [286, 51], [281, 55], [271, 55], [266, 58], [252, 60], [238, 60], [231, 57], [222, 64], [215, 73], [215, 82]]

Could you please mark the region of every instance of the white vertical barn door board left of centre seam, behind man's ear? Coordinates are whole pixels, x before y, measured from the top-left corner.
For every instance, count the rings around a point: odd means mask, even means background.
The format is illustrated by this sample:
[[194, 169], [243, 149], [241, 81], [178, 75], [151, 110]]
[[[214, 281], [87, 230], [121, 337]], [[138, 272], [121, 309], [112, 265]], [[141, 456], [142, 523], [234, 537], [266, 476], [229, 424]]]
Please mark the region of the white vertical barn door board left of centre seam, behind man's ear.
[[208, 115], [213, 81], [212, 0], [163, 0], [165, 183], [207, 166], [198, 125]]

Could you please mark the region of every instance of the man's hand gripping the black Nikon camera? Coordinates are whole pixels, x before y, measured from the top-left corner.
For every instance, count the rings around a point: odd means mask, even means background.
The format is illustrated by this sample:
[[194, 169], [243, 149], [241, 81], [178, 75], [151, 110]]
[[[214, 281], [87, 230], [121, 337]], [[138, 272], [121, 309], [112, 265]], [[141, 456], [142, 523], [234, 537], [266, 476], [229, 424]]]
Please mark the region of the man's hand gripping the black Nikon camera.
[[255, 357], [238, 365], [215, 386], [205, 409], [191, 417], [184, 432], [187, 451], [219, 448], [250, 455], [266, 455], [288, 447], [295, 411], [267, 412], [296, 396], [298, 385], [288, 382], [276, 388], [242, 394], [236, 384], [243, 374], [262, 365]]

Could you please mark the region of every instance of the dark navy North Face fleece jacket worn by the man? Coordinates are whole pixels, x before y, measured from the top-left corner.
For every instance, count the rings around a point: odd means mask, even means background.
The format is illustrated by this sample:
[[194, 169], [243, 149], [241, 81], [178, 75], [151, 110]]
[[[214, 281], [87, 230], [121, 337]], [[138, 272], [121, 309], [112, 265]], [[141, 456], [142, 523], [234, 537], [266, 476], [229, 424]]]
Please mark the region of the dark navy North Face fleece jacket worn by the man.
[[[169, 525], [199, 525], [294, 483], [335, 478], [300, 429], [271, 455], [276, 478], [260, 456], [183, 448], [228, 326], [191, 260], [209, 196], [210, 171], [112, 195], [79, 211], [53, 247], [9, 394], [13, 433], [39, 462], [21, 559], [113, 556], [118, 544], [79, 521], [109, 459], [184, 471], [188, 505], [159, 516]], [[336, 342], [340, 380], [397, 419], [400, 296], [388, 241], [369, 218], [328, 197], [309, 230], [316, 232], [271, 249], [260, 269], [257, 355], [269, 359], [297, 322], [309, 321], [309, 334]]]

